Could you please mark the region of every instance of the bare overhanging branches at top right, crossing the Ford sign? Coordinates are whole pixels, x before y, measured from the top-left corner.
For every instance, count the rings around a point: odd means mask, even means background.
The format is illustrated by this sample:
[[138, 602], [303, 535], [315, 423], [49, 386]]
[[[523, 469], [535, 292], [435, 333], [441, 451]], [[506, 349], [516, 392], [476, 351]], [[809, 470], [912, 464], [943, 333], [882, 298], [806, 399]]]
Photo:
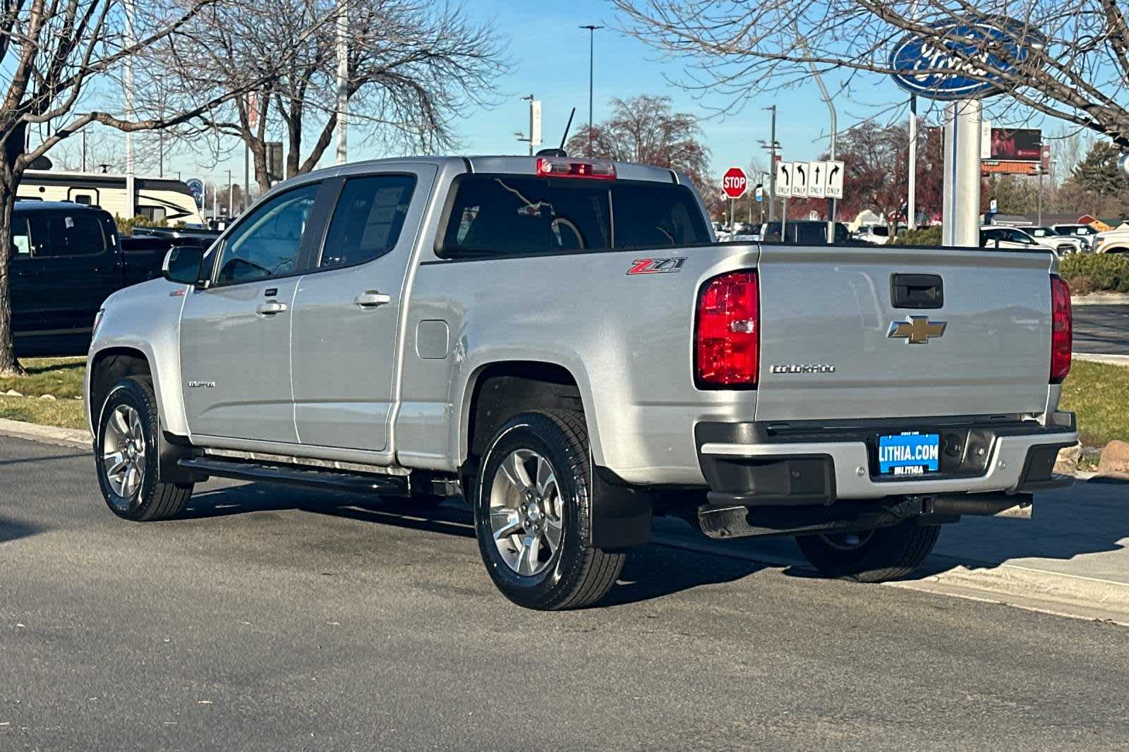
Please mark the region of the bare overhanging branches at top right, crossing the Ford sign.
[[[1119, 0], [613, 1], [630, 33], [689, 62], [689, 86], [728, 94], [730, 106], [813, 68], [889, 75], [891, 50], [913, 35], [945, 50], [962, 76], [999, 81], [1026, 112], [1129, 149], [1129, 24]], [[999, 34], [970, 37], [974, 24]]]

